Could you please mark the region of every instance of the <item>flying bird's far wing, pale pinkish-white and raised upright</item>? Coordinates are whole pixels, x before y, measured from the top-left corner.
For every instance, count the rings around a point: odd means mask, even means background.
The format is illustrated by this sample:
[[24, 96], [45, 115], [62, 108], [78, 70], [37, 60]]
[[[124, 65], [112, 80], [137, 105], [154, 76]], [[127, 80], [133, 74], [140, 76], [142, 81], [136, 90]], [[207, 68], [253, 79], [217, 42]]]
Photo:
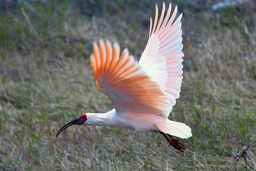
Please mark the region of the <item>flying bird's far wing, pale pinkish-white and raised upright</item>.
[[[169, 4], [164, 17], [165, 4], [163, 3], [162, 13], [157, 22], [159, 11], [156, 5], [154, 25], [152, 26], [152, 18], [150, 18], [149, 40], [139, 60], [139, 65], [153, 81], [159, 84], [161, 90], [166, 93], [170, 104], [174, 106], [175, 99], [180, 97], [183, 67], [181, 63], [184, 53], [182, 52], [183, 45], [181, 43], [180, 20], [182, 14], [174, 21], [177, 7], [170, 16], [171, 8], [171, 4]], [[170, 111], [166, 113], [167, 116]]]

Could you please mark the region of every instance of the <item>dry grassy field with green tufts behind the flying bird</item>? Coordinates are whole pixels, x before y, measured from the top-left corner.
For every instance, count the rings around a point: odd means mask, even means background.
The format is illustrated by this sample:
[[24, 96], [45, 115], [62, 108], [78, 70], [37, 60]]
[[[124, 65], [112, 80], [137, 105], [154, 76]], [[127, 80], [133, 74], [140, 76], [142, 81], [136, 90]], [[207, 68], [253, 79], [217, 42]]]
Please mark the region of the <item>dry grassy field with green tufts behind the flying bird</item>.
[[[55, 137], [81, 113], [112, 109], [95, 86], [92, 42], [118, 41], [139, 59], [156, 1], [7, 4], [0, 10], [0, 170], [235, 170], [229, 153], [244, 146], [255, 161], [256, 5], [212, 12], [213, 2], [172, 2], [184, 12], [185, 58], [169, 118], [192, 128], [181, 140], [184, 154], [156, 132], [72, 126]], [[246, 169], [243, 157], [237, 164]]]

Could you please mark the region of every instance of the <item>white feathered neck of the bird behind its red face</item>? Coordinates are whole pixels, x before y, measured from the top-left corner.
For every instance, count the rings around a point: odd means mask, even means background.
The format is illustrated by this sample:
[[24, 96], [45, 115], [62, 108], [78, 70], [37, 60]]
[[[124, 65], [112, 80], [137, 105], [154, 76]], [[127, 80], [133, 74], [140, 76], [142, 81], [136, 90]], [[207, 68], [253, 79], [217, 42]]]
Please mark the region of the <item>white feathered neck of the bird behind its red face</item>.
[[87, 121], [83, 125], [109, 125], [111, 118], [115, 115], [115, 109], [106, 113], [86, 113]]

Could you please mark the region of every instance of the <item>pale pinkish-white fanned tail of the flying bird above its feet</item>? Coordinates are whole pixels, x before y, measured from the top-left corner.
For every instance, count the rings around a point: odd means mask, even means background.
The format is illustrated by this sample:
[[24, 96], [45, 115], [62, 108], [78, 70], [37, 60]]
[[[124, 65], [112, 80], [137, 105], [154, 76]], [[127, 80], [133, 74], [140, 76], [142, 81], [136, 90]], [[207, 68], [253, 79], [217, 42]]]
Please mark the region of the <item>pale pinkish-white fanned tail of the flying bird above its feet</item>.
[[187, 126], [185, 123], [168, 120], [166, 122], [157, 123], [156, 126], [162, 132], [179, 138], [189, 138], [192, 136], [190, 126]]

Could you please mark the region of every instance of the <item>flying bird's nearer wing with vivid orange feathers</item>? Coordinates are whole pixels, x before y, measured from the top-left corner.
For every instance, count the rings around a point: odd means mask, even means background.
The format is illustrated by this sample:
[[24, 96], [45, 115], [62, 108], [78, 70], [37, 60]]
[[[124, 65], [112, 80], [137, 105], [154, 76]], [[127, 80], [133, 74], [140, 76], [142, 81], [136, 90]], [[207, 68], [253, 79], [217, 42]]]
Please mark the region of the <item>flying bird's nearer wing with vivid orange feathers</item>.
[[119, 58], [118, 43], [100, 40], [93, 43], [90, 56], [96, 86], [112, 101], [117, 112], [155, 113], [169, 111], [170, 103], [165, 93], [124, 49]]

